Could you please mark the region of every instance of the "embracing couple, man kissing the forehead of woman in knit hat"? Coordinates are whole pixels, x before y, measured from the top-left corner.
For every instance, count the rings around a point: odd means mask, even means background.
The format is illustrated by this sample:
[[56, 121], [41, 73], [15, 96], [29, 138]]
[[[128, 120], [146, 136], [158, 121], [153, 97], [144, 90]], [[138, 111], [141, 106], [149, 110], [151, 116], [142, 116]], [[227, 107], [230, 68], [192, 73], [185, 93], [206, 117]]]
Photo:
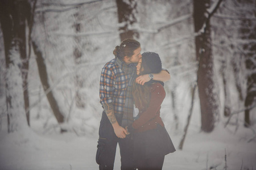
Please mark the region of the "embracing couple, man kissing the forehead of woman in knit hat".
[[175, 148], [160, 118], [170, 79], [158, 54], [141, 54], [141, 44], [126, 39], [116, 46], [114, 59], [101, 71], [102, 112], [96, 162], [113, 169], [117, 143], [121, 169], [162, 169], [164, 156]]

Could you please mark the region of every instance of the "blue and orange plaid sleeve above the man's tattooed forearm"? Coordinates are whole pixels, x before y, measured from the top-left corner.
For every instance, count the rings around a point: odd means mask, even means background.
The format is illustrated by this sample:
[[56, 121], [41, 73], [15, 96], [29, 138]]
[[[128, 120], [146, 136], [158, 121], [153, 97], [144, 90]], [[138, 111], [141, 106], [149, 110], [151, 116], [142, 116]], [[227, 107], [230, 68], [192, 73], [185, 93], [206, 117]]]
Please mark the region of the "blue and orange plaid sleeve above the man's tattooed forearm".
[[101, 71], [100, 103], [113, 103], [115, 74], [111, 67], [105, 66]]

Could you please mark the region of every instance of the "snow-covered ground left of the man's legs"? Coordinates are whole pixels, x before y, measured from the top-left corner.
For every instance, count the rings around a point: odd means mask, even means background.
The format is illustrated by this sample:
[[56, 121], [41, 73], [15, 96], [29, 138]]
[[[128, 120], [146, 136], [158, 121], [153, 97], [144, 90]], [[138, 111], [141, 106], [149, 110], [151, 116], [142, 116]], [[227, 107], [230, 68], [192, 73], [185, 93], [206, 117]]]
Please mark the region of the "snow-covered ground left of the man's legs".
[[[93, 153], [95, 138], [75, 134], [40, 137], [35, 133], [20, 142], [14, 133], [1, 143], [0, 169], [96, 169]], [[11, 142], [10, 142], [11, 141]], [[89, 154], [91, 153], [91, 154]]]

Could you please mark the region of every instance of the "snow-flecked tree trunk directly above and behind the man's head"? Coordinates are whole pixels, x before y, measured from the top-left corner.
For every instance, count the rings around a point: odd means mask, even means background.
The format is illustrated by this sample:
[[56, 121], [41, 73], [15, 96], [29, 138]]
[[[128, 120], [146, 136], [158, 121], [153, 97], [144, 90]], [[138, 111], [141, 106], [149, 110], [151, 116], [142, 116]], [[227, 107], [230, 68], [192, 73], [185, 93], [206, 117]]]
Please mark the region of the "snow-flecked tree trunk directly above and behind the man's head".
[[135, 18], [137, 2], [135, 0], [116, 0], [116, 2], [118, 23], [121, 25], [119, 27], [121, 41], [125, 39], [133, 39], [134, 36], [139, 38], [139, 33], [137, 31], [129, 29], [130, 25], [137, 22], [137, 19]]

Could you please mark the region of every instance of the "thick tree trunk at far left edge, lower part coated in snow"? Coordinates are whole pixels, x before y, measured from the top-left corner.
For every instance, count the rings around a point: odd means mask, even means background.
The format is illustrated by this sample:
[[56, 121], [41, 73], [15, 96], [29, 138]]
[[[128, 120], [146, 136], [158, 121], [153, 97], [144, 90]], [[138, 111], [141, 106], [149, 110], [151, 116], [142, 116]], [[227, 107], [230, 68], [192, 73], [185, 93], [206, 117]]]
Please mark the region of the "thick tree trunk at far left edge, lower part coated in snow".
[[[24, 83], [27, 83], [26, 63], [26, 33], [24, 25], [26, 16], [24, 6], [27, 1], [1, 1], [0, 22], [5, 42], [6, 60], [6, 108], [8, 132], [20, 130], [26, 126], [25, 95], [28, 100], [28, 91], [24, 92]], [[26, 74], [24, 74], [26, 72]]]

